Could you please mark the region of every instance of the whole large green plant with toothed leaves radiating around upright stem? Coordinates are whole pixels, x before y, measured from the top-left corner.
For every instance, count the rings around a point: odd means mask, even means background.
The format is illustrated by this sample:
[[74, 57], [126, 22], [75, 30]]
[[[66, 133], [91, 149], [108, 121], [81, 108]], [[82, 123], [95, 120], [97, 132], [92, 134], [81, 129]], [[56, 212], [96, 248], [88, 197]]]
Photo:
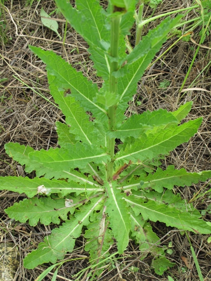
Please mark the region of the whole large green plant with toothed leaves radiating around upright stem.
[[96, 274], [109, 261], [112, 247], [123, 254], [133, 239], [142, 258], [152, 254], [152, 266], [161, 275], [174, 264], [165, 257], [150, 221], [211, 233], [211, 223], [173, 192], [175, 185], [207, 180], [211, 171], [159, 167], [165, 155], [196, 134], [202, 118], [181, 124], [192, 102], [174, 112], [124, 113], [144, 70], [181, 17], [166, 18], [127, 54], [125, 36], [135, 21], [136, 0], [110, 0], [106, 10], [98, 0], [76, 0], [76, 8], [66, 0], [56, 3], [89, 44], [90, 58], [104, 82], [99, 89], [53, 51], [30, 46], [46, 64], [50, 93], [66, 118], [65, 123], [56, 122], [57, 148], [35, 151], [19, 143], [5, 145], [27, 173], [36, 172], [33, 179], [0, 177], [1, 190], [28, 196], [7, 208], [8, 216], [31, 226], [60, 225], [25, 257], [24, 266], [33, 269], [63, 259], [83, 232]]

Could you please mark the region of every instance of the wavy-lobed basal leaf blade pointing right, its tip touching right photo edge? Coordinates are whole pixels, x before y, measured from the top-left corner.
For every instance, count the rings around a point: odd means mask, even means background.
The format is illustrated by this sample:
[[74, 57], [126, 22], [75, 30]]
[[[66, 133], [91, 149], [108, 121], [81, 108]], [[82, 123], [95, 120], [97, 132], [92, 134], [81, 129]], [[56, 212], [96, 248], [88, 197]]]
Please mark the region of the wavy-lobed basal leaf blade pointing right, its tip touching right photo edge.
[[173, 165], [170, 165], [167, 170], [163, 171], [157, 168], [154, 174], [149, 174], [143, 180], [142, 189], [153, 188], [157, 192], [163, 192], [163, 188], [172, 189], [174, 185], [190, 186], [192, 183], [198, 183], [199, 180], [206, 181], [211, 177], [211, 171], [203, 171], [199, 173], [188, 173], [185, 169], [175, 170]]

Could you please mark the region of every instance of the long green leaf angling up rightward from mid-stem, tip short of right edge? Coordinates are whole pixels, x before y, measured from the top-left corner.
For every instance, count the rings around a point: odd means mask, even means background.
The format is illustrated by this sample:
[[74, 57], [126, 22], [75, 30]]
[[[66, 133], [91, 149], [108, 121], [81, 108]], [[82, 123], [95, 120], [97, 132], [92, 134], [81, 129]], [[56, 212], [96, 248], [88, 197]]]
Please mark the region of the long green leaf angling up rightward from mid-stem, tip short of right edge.
[[180, 126], [172, 125], [168, 129], [156, 134], [143, 134], [133, 144], [128, 144], [116, 154], [115, 161], [133, 161], [134, 163], [145, 159], [152, 159], [158, 154], [166, 154], [176, 148], [177, 145], [188, 141], [202, 123], [202, 118], [190, 120]]

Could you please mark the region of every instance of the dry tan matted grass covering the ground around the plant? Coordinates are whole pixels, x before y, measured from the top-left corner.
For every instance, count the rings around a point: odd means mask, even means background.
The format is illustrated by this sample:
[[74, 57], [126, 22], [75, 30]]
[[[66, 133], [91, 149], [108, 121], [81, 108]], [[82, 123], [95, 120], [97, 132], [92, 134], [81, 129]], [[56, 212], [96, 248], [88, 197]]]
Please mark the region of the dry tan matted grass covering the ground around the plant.
[[[191, 4], [190, 0], [164, 0], [156, 13], [168, 11], [174, 7], [186, 7]], [[42, 26], [39, 11], [41, 7], [47, 13], [55, 10], [53, 0], [34, 1], [31, 7], [25, 7], [22, 1], [8, 0], [3, 8], [3, 15], [6, 19], [6, 39], [1, 40], [0, 78], [7, 78], [7, 81], [0, 84], [0, 176], [20, 176], [23, 170], [11, 158], [5, 154], [4, 143], [9, 141], [30, 145], [34, 149], [57, 146], [57, 135], [55, 131], [55, 121], [62, 120], [62, 112], [54, 105], [47, 84], [45, 66], [37, 60], [34, 54], [28, 49], [28, 44], [39, 46], [45, 50], [54, 50], [69, 61], [77, 70], [81, 70], [84, 75], [101, 83], [96, 77], [89, 60], [87, 44], [68, 26], [65, 45], [58, 39], [55, 33]], [[150, 14], [147, 9], [146, 13]], [[193, 12], [194, 13], [194, 12]], [[191, 14], [188, 16], [191, 17]], [[187, 17], [187, 20], [189, 19]], [[59, 33], [64, 35], [64, 18], [57, 14], [59, 22]], [[152, 28], [158, 22], [150, 24]], [[144, 30], [144, 33], [147, 32]], [[199, 37], [194, 37], [199, 41]], [[133, 42], [133, 35], [131, 36]], [[203, 43], [209, 46], [210, 42]], [[141, 79], [137, 95], [130, 103], [127, 114], [133, 111], [143, 112], [146, 109], [167, 108], [176, 109], [176, 99], [178, 89], [184, 79], [190, 62], [192, 60], [196, 45], [192, 42], [179, 42], [164, 57], [158, 61], [150, 72], [145, 73]], [[179, 104], [186, 101], [193, 101], [193, 108], [186, 120], [203, 117], [204, 121], [195, 135], [188, 143], [180, 145], [166, 158], [163, 166], [173, 164], [176, 168], [185, 168], [189, 172], [198, 172], [211, 169], [211, 70], [205, 69], [211, 59], [211, 52], [208, 49], [200, 49], [198, 57], [191, 70], [189, 78], [184, 88], [188, 88], [193, 82], [192, 88], [204, 89], [184, 92], [179, 100]], [[167, 89], [159, 88], [160, 82], [164, 79], [170, 81]], [[21, 81], [21, 82], [20, 82]], [[45, 100], [43, 97], [47, 100]], [[141, 105], [137, 105], [137, 101]], [[51, 102], [51, 103], [50, 103]], [[33, 174], [27, 176], [34, 176]], [[211, 200], [205, 194], [210, 188], [209, 184], [196, 184], [191, 187], [177, 188], [181, 196], [191, 200], [196, 192], [200, 190], [200, 195], [193, 201], [198, 210], [204, 210]], [[39, 266], [34, 270], [26, 270], [22, 260], [24, 256], [35, 248], [46, 234], [51, 232], [53, 225], [44, 227], [37, 225], [30, 227], [27, 223], [21, 224], [10, 220], [4, 209], [23, 199], [23, 195], [2, 191], [0, 193], [0, 242], [14, 242], [20, 252], [20, 265], [16, 272], [16, 281], [33, 281], [46, 266]], [[211, 216], [206, 215], [206, 220], [211, 221]], [[198, 274], [193, 262], [190, 246], [187, 238], [180, 232], [167, 228], [161, 223], [152, 224], [157, 235], [160, 237], [162, 245], [168, 247], [169, 242], [173, 243], [173, 254], [169, 258], [176, 263], [176, 266], [169, 272], [178, 281], [198, 281]], [[168, 233], [168, 235], [166, 235]], [[211, 280], [211, 248], [207, 243], [207, 237], [189, 233], [191, 244], [194, 247], [199, 265], [205, 280]], [[66, 259], [82, 258], [66, 262], [58, 272], [57, 280], [74, 280], [71, 276], [79, 270], [88, 266], [88, 254], [83, 250], [85, 241], [83, 237], [77, 240], [75, 251], [67, 254]], [[115, 251], [115, 248], [113, 249]], [[185, 268], [181, 256], [188, 259], [193, 265], [192, 269]], [[116, 260], [115, 265], [119, 269], [105, 271], [99, 280], [121, 280], [121, 277], [131, 281], [167, 281], [167, 275], [160, 277], [150, 269], [151, 257], [148, 256], [141, 261], [141, 253], [134, 243], [130, 243], [128, 251], [121, 259]], [[133, 273], [129, 270], [131, 266], [140, 268], [139, 272]], [[49, 274], [44, 280], [52, 279]], [[81, 281], [86, 280], [85, 278]]]

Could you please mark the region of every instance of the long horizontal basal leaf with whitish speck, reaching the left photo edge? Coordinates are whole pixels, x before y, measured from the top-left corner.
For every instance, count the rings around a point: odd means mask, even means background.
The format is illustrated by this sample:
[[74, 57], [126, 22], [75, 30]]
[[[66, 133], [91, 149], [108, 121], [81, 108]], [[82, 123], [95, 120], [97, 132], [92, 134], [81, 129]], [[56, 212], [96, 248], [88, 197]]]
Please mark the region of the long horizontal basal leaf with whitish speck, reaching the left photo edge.
[[[66, 175], [68, 177], [67, 173], [63, 174], [63, 176]], [[75, 181], [80, 181], [79, 177], [74, 179]], [[75, 193], [76, 195], [80, 193], [90, 194], [104, 190], [102, 186], [88, 181], [87, 178], [81, 179], [81, 182], [84, 185], [73, 181], [67, 182], [66, 180], [47, 179], [44, 177], [30, 179], [27, 176], [0, 176], [0, 190], [10, 190], [20, 194], [25, 193], [30, 198], [36, 194], [44, 194], [44, 192], [38, 192], [38, 187], [42, 185], [47, 189], [48, 196], [51, 193], [59, 193], [61, 196], [66, 196], [70, 193]]]

